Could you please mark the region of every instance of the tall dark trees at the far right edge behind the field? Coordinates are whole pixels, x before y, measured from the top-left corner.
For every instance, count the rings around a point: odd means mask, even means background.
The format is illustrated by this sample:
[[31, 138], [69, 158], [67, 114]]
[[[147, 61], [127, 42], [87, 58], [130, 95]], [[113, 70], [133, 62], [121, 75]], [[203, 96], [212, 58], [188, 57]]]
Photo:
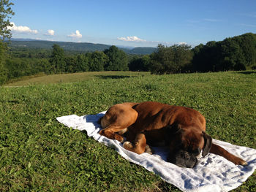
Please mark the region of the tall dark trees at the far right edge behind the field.
[[256, 34], [248, 33], [207, 42], [193, 49], [192, 69], [197, 72], [245, 70], [256, 64]]

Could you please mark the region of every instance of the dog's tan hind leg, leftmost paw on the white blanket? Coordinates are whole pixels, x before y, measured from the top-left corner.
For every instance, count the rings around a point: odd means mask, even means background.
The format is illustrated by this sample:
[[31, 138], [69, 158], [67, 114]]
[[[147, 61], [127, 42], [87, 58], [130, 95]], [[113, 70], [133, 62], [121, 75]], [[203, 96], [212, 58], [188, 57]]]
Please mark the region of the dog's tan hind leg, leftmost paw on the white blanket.
[[108, 126], [102, 130], [99, 131], [99, 134], [108, 137], [109, 139], [116, 139], [119, 142], [124, 142], [124, 137], [122, 137], [119, 134], [116, 134], [118, 131], [124, 130], [125, 127], [121, 126]]

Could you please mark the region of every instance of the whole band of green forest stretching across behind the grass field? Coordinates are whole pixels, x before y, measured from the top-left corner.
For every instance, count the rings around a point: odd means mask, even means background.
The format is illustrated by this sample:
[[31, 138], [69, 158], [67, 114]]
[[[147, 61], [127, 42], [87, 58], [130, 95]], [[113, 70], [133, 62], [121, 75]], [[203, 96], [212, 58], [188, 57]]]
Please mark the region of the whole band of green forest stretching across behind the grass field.
[[151, 54], [126, 53], [110, 46], [105, 50], [64, 50], [58, 42], [50, 48], [11, 46], [0, 41], [0, 85], [32, 74], [95, 71], [138, 71], [151, 74], [220, 72], [256, 69], [256, 34], [189, 45], [158, 45]]

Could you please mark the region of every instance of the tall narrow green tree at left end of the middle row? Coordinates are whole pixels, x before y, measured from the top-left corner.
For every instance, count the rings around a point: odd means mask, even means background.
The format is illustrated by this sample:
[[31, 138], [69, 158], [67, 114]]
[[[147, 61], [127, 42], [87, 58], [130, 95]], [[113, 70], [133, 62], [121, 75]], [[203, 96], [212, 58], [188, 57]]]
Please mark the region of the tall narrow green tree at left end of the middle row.
[[59, 45], [53, 45], [50, 64], [54, 74], [65, 72], [64, 50]]

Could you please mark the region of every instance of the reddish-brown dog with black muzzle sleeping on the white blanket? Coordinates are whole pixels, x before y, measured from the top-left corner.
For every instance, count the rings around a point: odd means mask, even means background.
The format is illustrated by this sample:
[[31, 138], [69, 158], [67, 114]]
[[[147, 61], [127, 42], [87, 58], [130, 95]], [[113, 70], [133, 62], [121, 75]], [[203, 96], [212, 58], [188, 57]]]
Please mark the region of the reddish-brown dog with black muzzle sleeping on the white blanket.
[[168, 147], [167, 161], [177, 166], [192, 168], [197, 159], [208, 153], [221, 155], [236, 165], [246, 166], [243, 159], [212, 143], [206, 134], [206, 119], [188, 107], [159, 102], [127, 102], [113, 105], [99, 120], [99, 134], [124, 142], [123, 147], [141, 154], [151, 153], [151, 146]]

